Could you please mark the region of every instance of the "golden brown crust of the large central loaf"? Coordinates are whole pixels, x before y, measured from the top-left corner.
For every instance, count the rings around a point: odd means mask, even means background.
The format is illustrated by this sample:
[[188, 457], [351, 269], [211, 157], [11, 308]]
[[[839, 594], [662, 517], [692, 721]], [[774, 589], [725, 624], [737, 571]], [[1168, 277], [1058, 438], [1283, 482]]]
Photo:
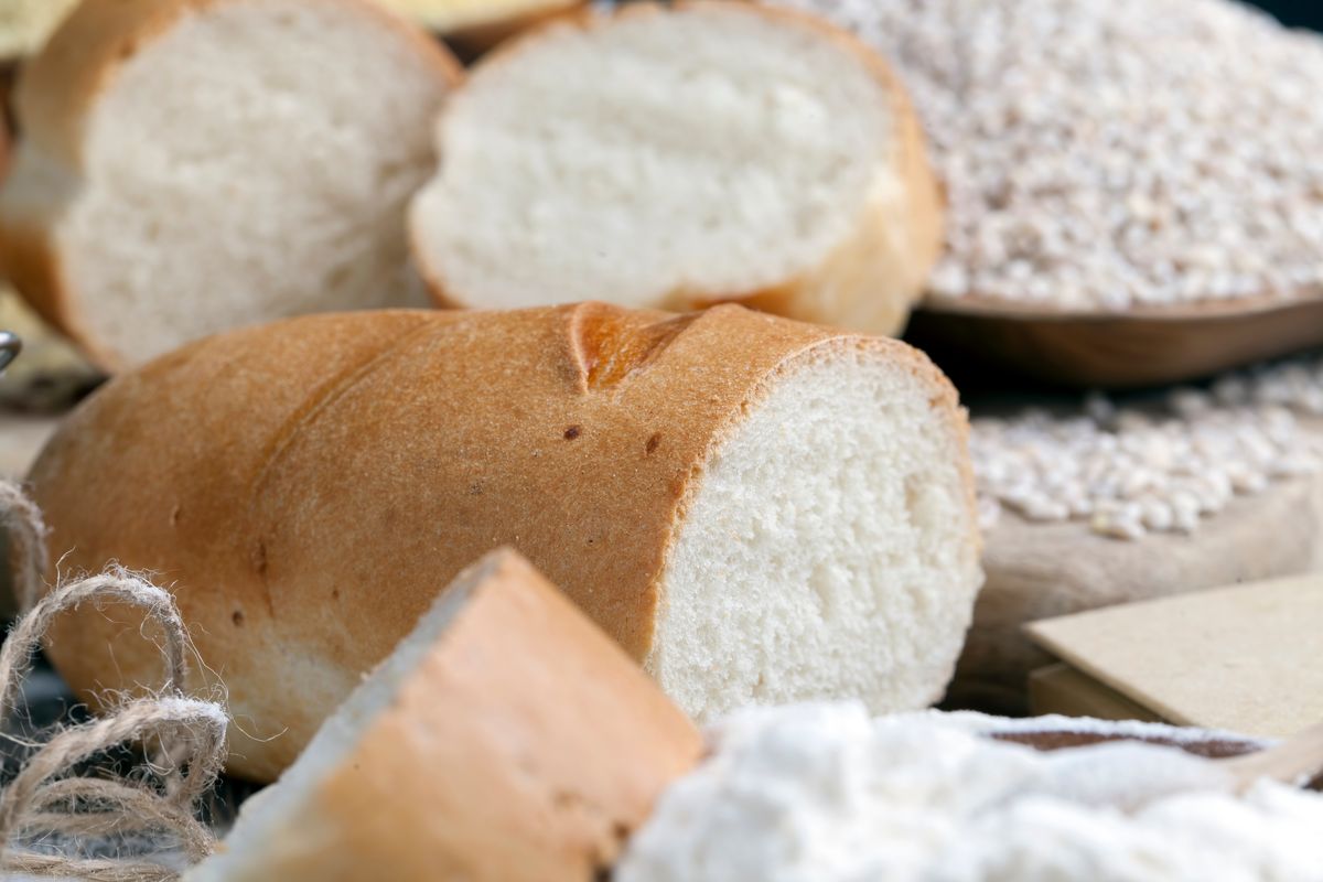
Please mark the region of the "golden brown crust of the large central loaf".
[[[251, 734], [288, 729], [237, 739], [235, 768], [270, 778], [437, 586], [500, 545], [646, 659], [713, 444], [770, 374], [824, 346], [912, 370], [966, 431], [950, 383], [909, 346], [734, 305], [353, 313], [222, 335], [126, 374], [32, 483], [66, 569], [119, 559], [176, 584]], [[69, 616], [56, 635], [83, 696], [135, 680], [123, 653], [140, 641], [116, 639], [114, 618]]]

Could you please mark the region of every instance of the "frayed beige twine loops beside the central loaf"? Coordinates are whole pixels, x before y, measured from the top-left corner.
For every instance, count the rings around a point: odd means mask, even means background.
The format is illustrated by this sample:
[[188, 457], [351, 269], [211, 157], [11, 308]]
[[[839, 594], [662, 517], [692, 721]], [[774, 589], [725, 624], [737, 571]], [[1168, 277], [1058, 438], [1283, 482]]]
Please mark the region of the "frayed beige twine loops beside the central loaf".
[[[15, 514], [17, 512], [17, 514]], [[168, 832], [188, 861], [214, 850], [216, 838], [197, 821], [198, 799], [214, 784], [225, 760], [228, 718], [222, 707], [187, 698], [188, 632], [171, 595], [149, 582], [112, 567], [99, 575], [58, 586], [36, 602], [45, 571], [45, 526], [41, 513], [13, 484], [0, 481], [0, 518], [19, 537], [19, 592], [28, 610], [0, 647], [0, 721], [16, 709], [32, 657], [61, 612], [85, 602], [118, 602], [142, 608], [164, 632], [165, 682], [149, 698], [136, 698], [112, 713], [64, 729], [36, 746], [17, 776], [0, 791], [0, 870], [62, 875], [105, 882], [175, 879], [177, 871], [155, 862], [89, 860], [11, 848], [16, 838], [101, 837]], [[12, 526], [19, 524], [17, 530]], [[126, 743], [155, 744], [147, 763], [160, 791], [144, 782], [67, 778], [74, 768]], [[187, 770], [187, 774], [185, 774]]]

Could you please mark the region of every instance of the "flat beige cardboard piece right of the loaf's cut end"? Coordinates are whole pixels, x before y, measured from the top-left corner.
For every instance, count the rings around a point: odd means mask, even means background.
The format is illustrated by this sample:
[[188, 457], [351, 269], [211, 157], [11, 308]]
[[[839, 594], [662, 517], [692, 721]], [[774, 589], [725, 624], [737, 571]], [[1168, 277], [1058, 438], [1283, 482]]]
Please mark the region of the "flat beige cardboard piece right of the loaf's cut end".
[[1323, 721], [1323, 573], [1045, 619], [1025, 632], [1172, 723], [1285, 738]]

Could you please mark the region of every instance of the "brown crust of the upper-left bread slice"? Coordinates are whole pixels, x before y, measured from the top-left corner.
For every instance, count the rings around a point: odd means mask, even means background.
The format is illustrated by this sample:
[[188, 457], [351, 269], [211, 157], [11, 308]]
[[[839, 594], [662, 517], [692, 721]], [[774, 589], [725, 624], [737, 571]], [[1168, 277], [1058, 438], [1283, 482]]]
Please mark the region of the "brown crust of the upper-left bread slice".
[[[25, 149], [61, 169], [64, 185], [36, 205], [13, 206], [0, 217], [0, 268], [46, 321], [77, 342], [102, 369], [123, 360], [82, 321], [78, 294], [62, 270], [56, 229], [82, 185], [83, 126], [119, 69], [189, 11], [233, 0], [85, 0], [45, 48], [24, 66], [16, 90]], [[341, 3], [386, 21], [418, 49], [447, 83], [462, 77], [459, 62], [426, 32], [364, 0]]]

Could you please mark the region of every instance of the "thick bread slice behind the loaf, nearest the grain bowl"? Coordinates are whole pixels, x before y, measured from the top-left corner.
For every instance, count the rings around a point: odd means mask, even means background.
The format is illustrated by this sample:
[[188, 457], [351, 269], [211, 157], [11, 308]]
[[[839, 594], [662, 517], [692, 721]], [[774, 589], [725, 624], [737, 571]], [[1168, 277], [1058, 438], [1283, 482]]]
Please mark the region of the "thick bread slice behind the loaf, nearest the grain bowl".
[[740, 301], [871, 333], [937, 257], [909, 100], [844, 32], [745, 4], [556, 21], [474, 69], [410, 209], [445, 305]]

